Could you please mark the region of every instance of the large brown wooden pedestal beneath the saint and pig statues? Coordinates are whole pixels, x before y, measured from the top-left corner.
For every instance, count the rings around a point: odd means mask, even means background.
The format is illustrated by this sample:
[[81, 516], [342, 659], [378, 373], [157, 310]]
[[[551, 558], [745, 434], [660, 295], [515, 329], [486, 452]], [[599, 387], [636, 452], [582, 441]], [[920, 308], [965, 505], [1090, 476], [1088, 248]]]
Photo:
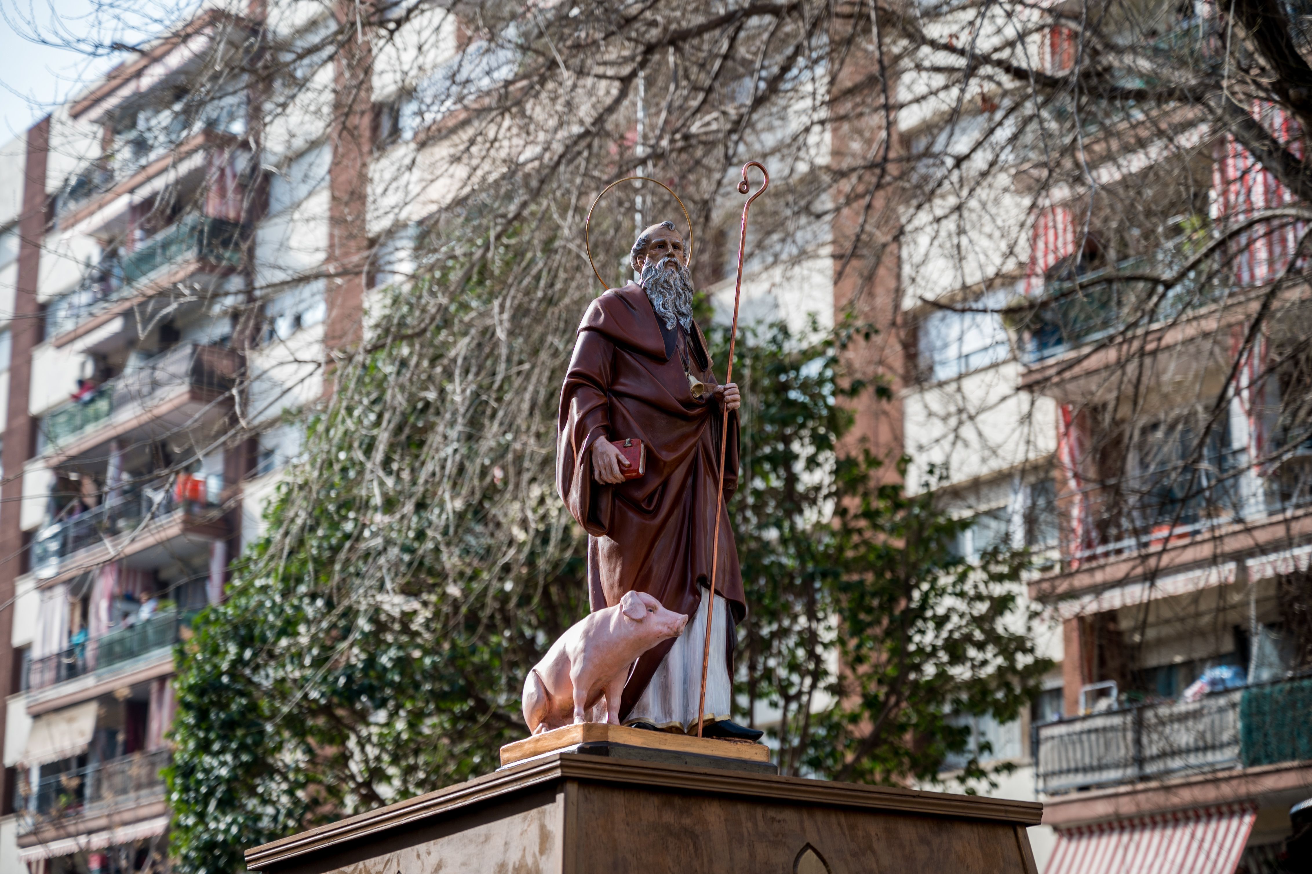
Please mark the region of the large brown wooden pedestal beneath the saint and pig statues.
[[1036, 874], [1025, 827], [1040, 815], [1033, 802], [550, 752], [257, 846], [247, 866], [266, 874]]

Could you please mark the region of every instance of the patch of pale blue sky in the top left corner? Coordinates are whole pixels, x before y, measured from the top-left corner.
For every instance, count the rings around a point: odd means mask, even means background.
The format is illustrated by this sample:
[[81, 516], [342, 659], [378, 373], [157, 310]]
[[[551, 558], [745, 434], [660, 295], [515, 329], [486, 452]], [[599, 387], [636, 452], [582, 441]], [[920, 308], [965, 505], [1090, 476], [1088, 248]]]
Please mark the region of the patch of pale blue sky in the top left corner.
[[181, 16], [178, 0], [0, 0], [0, 142], [8, 142]]

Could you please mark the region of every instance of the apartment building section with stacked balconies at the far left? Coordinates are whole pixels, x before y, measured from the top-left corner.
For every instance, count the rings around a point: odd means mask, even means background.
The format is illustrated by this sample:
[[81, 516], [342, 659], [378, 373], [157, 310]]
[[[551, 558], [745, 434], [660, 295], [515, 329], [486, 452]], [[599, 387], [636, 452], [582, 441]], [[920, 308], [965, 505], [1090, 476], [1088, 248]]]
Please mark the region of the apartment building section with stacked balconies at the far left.
[[7, 871], [167, 870], [173, 648], [258, 533], [344, 297], [358, 336], [356, 289], [285, 278], [332, 264], [337, 171], [323, 125], [255, 136], [255, 33], [202, 12], [0, 150]]

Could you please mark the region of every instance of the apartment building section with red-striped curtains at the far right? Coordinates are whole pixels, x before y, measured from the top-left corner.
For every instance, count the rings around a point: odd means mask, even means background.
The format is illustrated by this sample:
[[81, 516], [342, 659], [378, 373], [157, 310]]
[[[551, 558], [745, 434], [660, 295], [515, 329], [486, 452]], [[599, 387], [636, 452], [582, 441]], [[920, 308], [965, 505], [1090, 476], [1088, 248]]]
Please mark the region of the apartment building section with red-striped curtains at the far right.
[[[1029, 46], [1039, 72], [1069, 70], [1060, 30]], [[951, 125], [908, 113], [903, 142], [951, 152], [1006, 102], [981, 91]], [[1279, 113], [1254, 117], [1288, 138]], [[1044, 802], [1048, 874], [1281, 871], [1307, 852], [1291, 810], [1312, 797], [1312, 677], [1295, 652], [1312, 530], [1305, 434], [1287, 409], [1302, 390], [1307, 287], [1287, 276], [1302, 226], [1227, 236], [1287, 194], [1232, 138], [1185, 127], [1089, 133], [1101, 201], [1065, 176], [1035, 190], [1039, 173], [1017, 168], [938, 203], [970, 219], [953, 240], [928, 226], [903, 247], [912, 484], [975, 520], [963, 554], [1006, 543], [1038, 559], [1029, 596], [1057, 669], [1019, 722], [972, 731], [981, 757], [1017, 766], [996, 791]], [[1139, 217], [1124, 205], [1144, 201], [1152, 232], [1127, 234]], [[1144, 310], [1147, 274], [1204, 247], [1211, 266]]]

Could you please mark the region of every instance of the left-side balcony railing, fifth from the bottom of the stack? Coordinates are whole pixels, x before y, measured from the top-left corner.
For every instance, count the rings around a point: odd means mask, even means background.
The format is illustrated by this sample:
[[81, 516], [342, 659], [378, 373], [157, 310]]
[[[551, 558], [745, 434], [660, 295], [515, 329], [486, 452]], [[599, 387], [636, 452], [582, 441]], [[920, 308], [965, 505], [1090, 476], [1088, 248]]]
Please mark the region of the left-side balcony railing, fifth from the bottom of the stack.
[[46, 336], [67, 333], [115, 302], [133, 297], [142, 281], [160, 268], [186, 260], [239, 266], [244, 239], [245, 228], [236, 222], [185, 217], [136, 251], [102, 259], [76, 289], [51, 301], [46, 310]]

